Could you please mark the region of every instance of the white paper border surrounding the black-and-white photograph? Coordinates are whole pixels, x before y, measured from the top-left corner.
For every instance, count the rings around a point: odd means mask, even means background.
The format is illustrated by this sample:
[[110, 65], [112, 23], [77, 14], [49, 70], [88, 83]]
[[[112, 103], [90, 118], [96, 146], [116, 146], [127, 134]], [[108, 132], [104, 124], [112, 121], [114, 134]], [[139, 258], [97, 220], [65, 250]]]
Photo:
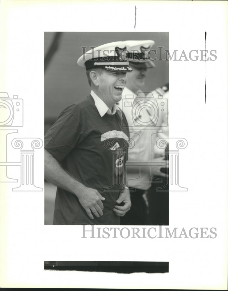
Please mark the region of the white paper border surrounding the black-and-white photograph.
[[[135, 5], [137, 31], [169, 31], [170, 51], [204, 49], [204, 31], [208, 49], [217, 50], [217, 60], [206, 64], [206, 105], [201, 99], [202, 62], [170, 62], [170, 137], [188, 140], [188, 148], [181, 152], [180, 178], [190, 189], [188, 194], [170, 194], [170, 229], [217, 227], [218, 236], [211, 240], [82, 241], [80, 226], [43, 225], [42, 192], [14, 193], [4, 184], [1, 287], [227, 287], [226, 2], [1, 1], [1, 92], [24, 99], [27, 123], [20, 135], [42, 138], [44, 31], [90, 31], [91, 27], [96, 31], [134, 31]], [[43, 183], [42, 157], [43, 149], [36, 155], [39, 185]], [[109, 260], [169, 261], [169, 273], [123, 275], [43, 269], [44, 260], [102, 260], [107, 256]]]

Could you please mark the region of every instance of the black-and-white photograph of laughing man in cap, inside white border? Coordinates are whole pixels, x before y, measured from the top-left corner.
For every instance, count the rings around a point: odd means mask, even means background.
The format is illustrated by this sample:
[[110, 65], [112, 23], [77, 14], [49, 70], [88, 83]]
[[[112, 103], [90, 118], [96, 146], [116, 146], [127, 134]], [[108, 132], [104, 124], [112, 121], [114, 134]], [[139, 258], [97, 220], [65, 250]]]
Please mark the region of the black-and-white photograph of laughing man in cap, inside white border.
[[168, 36], [44, 33], [46, 225], [169, 224]]

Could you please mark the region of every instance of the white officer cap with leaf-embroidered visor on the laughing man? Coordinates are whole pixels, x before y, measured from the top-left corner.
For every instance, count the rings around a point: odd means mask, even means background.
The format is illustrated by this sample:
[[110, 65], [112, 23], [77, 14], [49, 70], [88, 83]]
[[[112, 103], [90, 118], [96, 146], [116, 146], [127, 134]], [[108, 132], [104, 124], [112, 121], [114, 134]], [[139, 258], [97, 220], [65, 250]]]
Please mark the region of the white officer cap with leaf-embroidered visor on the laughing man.
[[86, 70], [102, 68], [113, 72], [132, 72], [127, 61], [128, 53], [127, 42], [110, 42], [89, 50], [78, 59], [77, 63]]

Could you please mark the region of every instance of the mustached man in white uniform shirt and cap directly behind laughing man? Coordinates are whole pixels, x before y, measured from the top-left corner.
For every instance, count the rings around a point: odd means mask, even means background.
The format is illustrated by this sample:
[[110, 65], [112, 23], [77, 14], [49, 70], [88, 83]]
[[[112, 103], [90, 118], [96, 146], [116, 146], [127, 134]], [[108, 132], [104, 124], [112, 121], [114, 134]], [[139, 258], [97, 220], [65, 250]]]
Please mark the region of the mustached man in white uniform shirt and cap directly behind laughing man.
[[[129, 148], [126, 164], [127, 186], [135, 188], [131, 191], [131, 209], [121, 217], [121, 225], [145, 225], [147, 205], [145, 191], [151, 187], [152, 176], [165, 177], [159, 166], [146, 165], [154, 160], [157, 127], [154, 127], [154, 107], [151, 105], [152, 93], [143, 93], [147, 69], [155, 65], [148, 59], [148, 52], [154, 45], [153, 40], [128, 41], [130, 45], [129, 65], [133, 72], [127, 74], [127, 84], [122, 93], [122, 101], [118, 103], [124, 112], [129, 125], [132, 146]], [[145, 95], [147, 97], [145, 98]], [[163, 159], [163, 158], [162, 158]], [[162, 160], [161, 159], [161, 160]], [[132, 189], [131, 189], [132, 190]]]

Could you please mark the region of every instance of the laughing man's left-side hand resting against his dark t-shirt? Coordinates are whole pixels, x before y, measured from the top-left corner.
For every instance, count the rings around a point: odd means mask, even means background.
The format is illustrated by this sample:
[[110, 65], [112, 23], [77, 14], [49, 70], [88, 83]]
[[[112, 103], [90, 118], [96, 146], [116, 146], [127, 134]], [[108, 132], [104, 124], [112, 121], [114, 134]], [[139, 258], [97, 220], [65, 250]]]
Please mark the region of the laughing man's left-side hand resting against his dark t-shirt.
[[85, 187], [78, 198], [89, 218], [93, 219], [92, 213], [96, 217], [103, 215], [104, 206], [101, 200], [103, 201], [105, 198], [97, 190]]

